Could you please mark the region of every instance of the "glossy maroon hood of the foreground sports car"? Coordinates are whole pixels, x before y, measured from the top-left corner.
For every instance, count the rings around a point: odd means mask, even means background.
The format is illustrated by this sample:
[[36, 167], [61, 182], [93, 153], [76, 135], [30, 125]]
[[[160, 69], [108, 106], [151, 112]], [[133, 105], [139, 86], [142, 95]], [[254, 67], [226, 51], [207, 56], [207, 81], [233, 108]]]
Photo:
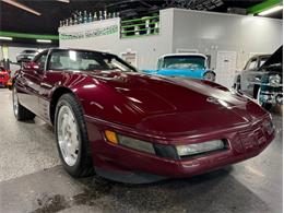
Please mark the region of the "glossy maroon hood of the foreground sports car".
[[[178, 133], [248, 125], [265, 115], [257, 104], [206, 81], [162, 78], [135, 72], [96, 72], [130, 108], [123, 125], [151, 132]], [[116, 103], [119, 105], [119, 103]], [[115, 122], [116, 117], [108, 118]], [[128, 123], [126, 123], [126, 120]]]

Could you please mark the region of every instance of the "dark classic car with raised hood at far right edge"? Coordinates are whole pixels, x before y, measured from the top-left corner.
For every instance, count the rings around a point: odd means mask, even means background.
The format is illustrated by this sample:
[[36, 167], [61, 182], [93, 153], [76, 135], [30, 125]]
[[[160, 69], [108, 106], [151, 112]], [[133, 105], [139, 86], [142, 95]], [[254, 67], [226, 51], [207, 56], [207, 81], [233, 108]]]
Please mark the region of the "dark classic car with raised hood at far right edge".
[[233, 87], [255, 99], [267, 109], [283, 105], [283, 47], [272, 56], [255, 56], [235, 76]]

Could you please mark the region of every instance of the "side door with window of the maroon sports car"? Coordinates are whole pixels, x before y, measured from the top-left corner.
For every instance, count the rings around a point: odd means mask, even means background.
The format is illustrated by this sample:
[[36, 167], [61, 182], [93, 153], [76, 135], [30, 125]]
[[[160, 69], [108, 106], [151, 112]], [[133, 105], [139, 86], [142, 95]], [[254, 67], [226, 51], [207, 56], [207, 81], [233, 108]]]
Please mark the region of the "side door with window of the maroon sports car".
[[40, 80], [38, 108], [39, 108], [40, 117], [47, 121], [49, 121], [50, 119], [50, 115], [49, 115], [50, 94], [57, 86], [61, 85], [61, 82], [63, 80], [64, 61], [61, 61], [64, 60], [63, 51], [66, 50], [60, 50], [60, 49], [49, 50], [47, 57], [46, 71]]

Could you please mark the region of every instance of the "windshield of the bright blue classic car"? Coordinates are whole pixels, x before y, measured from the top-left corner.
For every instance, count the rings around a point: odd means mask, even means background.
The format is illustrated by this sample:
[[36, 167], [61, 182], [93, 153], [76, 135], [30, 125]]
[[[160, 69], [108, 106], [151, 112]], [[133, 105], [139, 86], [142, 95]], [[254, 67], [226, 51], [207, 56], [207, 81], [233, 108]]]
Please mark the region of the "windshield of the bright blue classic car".
[[205, 68], [205, 58], [202, 56], [168, 56], [164, 58], [164, 69], [190, 69]]

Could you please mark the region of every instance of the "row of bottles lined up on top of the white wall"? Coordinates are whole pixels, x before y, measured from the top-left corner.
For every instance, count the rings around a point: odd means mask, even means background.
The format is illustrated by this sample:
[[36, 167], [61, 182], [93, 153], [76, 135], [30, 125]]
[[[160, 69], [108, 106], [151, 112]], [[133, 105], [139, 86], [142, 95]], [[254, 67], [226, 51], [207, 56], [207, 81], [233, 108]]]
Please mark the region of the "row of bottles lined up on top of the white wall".
[[60, 21], [59, 27], [85, 24], [85, 23], [104, 21], [104, 20], [109, 20], [115, 17], [119, 17], [118, 12], [110, 13], [107, 11], [95, 11], [95, 12], [76, 11], [72, 13], [71, 17]]

